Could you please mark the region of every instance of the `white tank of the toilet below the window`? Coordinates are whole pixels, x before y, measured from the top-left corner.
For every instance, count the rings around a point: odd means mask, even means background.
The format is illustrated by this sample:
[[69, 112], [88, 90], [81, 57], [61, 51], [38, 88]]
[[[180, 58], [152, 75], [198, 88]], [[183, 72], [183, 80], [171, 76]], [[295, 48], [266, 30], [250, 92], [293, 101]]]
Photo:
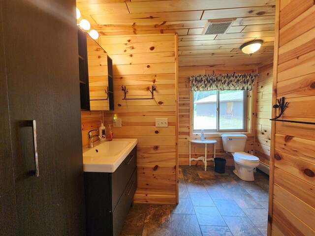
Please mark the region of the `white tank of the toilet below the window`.
[[247, 136], [244, 134], [222, 134], [223, 149], [227, 152], [244, 151]]

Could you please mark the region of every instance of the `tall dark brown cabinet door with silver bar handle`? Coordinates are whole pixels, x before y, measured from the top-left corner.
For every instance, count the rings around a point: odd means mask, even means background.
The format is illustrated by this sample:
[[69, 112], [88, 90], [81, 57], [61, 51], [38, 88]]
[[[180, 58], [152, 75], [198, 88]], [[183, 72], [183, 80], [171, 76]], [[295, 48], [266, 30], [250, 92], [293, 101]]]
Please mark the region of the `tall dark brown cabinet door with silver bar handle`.
[[[4, 134], [12, 143], [15, 234], [84, 235], [75, 0], [0, 2], [11, 131]], [[38, 177], [26, 120], [36, 120]]]

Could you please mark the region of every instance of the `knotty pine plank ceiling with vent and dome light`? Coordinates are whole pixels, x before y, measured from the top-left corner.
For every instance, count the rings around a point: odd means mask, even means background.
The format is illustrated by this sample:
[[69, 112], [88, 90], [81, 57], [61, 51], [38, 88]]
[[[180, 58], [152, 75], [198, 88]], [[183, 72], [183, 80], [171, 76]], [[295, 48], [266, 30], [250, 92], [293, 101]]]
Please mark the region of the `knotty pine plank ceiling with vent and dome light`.
[[[275, 0], [77, 0], [101, 36], [178, 33], [179, 66], [252, 67], [271, 62]], [[209, 19], [236, 18], [224, 34], [201, 35]], [[264, 41], [252, 56], [240, 46]], [[105, 49], [106, 50], [106, 49]]]

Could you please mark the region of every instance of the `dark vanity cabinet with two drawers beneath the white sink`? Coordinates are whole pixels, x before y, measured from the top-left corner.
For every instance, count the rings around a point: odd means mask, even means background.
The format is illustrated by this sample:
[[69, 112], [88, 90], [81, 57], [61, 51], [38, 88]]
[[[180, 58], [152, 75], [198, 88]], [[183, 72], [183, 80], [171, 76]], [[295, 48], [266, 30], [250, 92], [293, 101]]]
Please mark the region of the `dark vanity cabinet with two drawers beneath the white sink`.
[[113, 173], [85, 172], [88, 236], [118, 236], [137, 188], [137, 146]]

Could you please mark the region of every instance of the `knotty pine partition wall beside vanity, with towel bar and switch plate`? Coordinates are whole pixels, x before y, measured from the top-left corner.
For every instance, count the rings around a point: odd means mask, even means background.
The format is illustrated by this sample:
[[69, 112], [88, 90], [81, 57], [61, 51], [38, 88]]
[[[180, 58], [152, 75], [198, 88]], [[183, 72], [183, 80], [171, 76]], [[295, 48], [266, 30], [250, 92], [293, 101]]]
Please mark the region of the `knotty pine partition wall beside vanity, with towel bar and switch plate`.
[[[176, 203], [177, 139], [177, 35], [102, 36], [101, 46], [113, 59], [113, 112], [105, 113], [105, 124], [114, 114], [122, 127], [113, 127], [115, 138], [138, 139], [138, 188], [136, 203]], [[154, 100], [150, 98], [156, 85]], [[156, 118], [168, 118], [168, 127], [155, 127]]]

